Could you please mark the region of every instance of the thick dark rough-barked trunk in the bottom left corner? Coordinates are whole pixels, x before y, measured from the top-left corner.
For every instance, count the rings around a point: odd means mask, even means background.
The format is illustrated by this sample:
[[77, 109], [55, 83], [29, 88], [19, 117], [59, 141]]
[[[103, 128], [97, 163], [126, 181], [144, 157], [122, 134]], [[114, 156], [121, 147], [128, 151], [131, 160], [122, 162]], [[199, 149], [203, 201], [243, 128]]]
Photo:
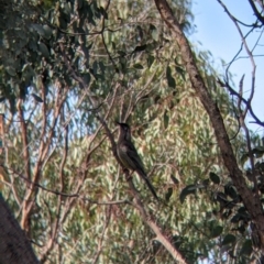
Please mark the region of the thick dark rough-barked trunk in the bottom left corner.
[[30, 241], [0, 195], [0, 263], [38, 263]]

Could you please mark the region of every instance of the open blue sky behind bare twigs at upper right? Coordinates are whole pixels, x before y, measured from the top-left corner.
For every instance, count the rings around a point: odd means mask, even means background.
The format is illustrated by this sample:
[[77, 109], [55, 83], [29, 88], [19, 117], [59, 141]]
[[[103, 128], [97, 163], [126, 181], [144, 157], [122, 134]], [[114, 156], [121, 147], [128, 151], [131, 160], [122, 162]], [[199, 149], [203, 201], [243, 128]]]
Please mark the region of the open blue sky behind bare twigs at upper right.
[[[248, 0], [223, 0], [227, 8], [239, 20], [245, 23], [253, 23], [255, 16]], [[228, 14], [217, 0], [196, 0], [193, 4], [193, 13], [195, 15], [196, 33], [190, 37], [191, 42], [197, 43], [199, 50], [210, 51], [215, 58], [216, 67], [219, 73], [223, 73], [221, 59], [229, 63], [241, 45], [241, 37], [235, 29], [234, 23], [229, 19]], [[242, 28], [243, 33], [249, 31], [249, 28]], [[260, 30], [249, 38], [250, 47], [252, 48], [256, 38], [260, 35]], [[201, 43], [198, 44], [198, 42]], [[264, 36], [260, 42], [264, 46]], [[255, 54], [264, 54], [263, 46], [255, 48]], [[242, 53], [245, 55], [245, 52]], [[256, 116], [264, 120], [264, 57], [257, 57], [256, 63], [256, 86], [255, 96], [253, 99], [253, 109]], [[233, 74], [234, 85], [238, 87], [241, 76], [245, 74], [244, 79], [244, 98], [249, 98], [251, 88], [252, 65], [249, 59], [239, 59], [230, 68]], [[248, 119], [251, 120], [250, 118]], [[263, 129], [257, 125], [252, 125], [253, 131], [257, 131], [261, 135], [264, 134]]]

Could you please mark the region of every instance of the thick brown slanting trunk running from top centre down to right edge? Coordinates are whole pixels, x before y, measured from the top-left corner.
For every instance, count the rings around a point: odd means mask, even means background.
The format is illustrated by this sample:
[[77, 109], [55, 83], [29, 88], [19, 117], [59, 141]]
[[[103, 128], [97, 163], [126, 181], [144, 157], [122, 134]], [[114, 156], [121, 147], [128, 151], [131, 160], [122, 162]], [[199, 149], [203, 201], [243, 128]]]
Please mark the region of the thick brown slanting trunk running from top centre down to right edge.
[[188, 41], [184, 35], [183, 31], [180, 30], [177, 19], [174, 16], [166, 0], [155, 0], [155, 3], [162, 19], [172, 30], [175, 40], [179, 45], [182, 56], [185, 62], [185, 66], [189, 75], [191, 85], [196, 91], [197, 97], [200, 99], [202, 106], [205, 107], [212, 123], [224, 165], [230, 173], [230, 177], [232, 178], [234, 186], [237, 187], [239, 194], [242, 197], [244, 206], [249, 210], [252, 220], [255, 222], [257, 227], [257, 232], [261, 238], [261, 248], [262, 250], [264, 250], [264, 224], [263, 224], [264, 215], [261, 201], [246, 186], [243, 174], [240, 170], [239, 165], [237, 163], [237, 158], [233, 154], [233, 150], [230, 144], [221, 113], [217, 105], [210, 98], [210, 95], [202, 80], [202, 77], [196, 66]]

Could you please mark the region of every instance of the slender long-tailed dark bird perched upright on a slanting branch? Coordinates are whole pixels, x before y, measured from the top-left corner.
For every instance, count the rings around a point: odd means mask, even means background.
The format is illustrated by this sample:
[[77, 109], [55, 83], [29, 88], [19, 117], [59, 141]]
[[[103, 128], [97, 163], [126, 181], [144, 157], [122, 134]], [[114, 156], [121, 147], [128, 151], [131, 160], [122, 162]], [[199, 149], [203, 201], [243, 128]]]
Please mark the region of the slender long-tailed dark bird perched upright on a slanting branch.
[[134, 144], [132, 143], [130, 125], [127, 123], [116, 123], [119, 125], [117, 152], [120, 162], [127, 169], [136, 172], [140, 177], [145, 180], [145, 184], [147, 185], [155, 199], [158, 200], [156, 191], [144, 170], [143, 162], [141, 161], [140, 155], [138, 154]]

